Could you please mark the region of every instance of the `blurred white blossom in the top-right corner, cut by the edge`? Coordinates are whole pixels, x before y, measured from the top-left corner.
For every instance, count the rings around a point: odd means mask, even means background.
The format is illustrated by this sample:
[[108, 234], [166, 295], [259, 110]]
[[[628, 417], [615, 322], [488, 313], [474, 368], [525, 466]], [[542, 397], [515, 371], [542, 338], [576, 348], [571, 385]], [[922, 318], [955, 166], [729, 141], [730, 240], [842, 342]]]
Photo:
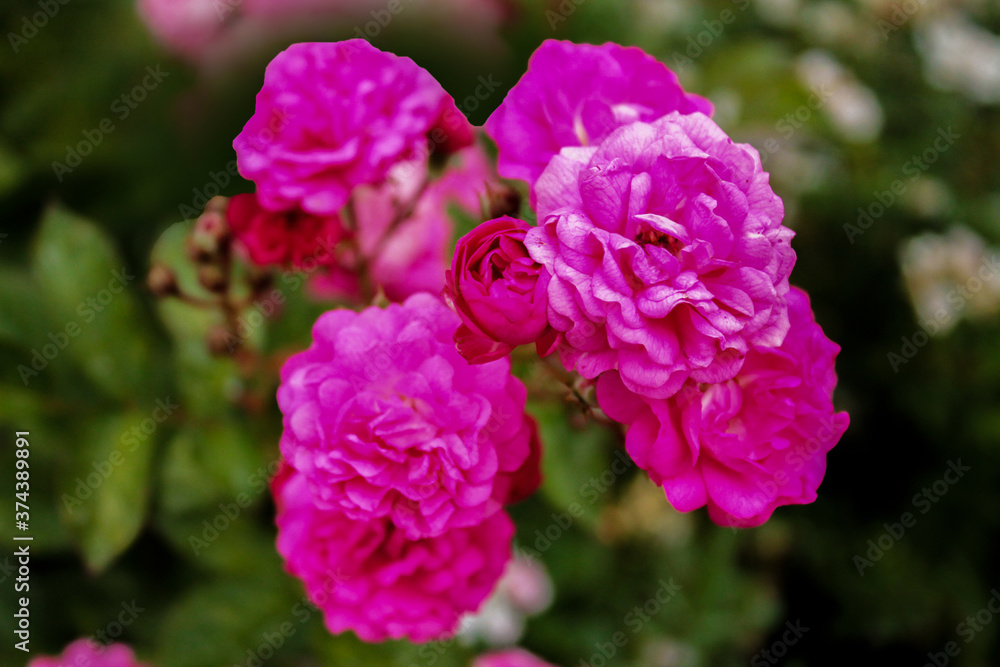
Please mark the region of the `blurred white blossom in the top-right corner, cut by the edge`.
[[983, 104], [1000, 102], [1000, 37], [949, 10], [922, 20], [915, 38], [932, 85]]

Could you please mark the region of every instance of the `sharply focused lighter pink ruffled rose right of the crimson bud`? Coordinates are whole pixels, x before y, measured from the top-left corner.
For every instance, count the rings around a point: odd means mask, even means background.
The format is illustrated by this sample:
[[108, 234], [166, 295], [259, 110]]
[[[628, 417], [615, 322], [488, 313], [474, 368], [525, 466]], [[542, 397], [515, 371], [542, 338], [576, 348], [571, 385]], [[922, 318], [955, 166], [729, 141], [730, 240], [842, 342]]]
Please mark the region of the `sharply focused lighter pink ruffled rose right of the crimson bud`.
[[631, 391], [666, 398], [781, 343], [794, 232], [757, 151], [707, 116], [565, 148], [536, 185], [525, 245], [552, 275], [548, 320], [568, 369], [617, 370]]

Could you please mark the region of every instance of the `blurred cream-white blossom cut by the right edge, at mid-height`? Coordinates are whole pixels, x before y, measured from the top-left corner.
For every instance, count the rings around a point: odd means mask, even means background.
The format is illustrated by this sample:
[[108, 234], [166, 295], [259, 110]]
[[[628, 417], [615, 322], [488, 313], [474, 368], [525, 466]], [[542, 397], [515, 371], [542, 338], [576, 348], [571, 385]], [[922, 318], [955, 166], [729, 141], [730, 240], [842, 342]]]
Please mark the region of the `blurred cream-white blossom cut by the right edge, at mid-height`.
[[904, 242], [900, 264], [910, 301], [930, 333], [947, 333], [967, 315], [1000, 311], [1000, 256], [975, 232], [954, 227], [947, 234], [922, 234]]

